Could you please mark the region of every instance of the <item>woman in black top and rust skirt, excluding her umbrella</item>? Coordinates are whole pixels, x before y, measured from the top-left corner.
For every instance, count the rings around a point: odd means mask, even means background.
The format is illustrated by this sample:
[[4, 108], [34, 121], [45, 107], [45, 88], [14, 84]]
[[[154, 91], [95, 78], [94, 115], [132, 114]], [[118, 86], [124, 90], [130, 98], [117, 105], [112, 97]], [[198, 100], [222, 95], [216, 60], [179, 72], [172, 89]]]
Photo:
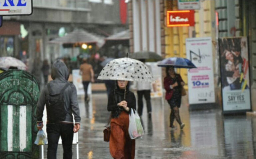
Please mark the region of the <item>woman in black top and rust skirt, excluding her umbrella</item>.
[[110, 154], [113, 158], [134, 159], [135, 140], [128, 133], [129, 113], [136, 110], [136, 99], [129, 91], [128, 81], [116, 82], [108, 98], [108, 111], [111, 111], [111, 135], [109, 140]]

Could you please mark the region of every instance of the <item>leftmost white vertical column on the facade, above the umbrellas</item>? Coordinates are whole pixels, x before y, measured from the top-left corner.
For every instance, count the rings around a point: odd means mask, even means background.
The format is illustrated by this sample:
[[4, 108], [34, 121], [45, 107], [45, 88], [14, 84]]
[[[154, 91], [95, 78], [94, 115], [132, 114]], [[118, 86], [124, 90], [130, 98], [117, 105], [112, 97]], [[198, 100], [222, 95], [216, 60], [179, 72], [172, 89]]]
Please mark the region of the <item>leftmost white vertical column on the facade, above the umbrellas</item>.
[[132, 1], [134, 52], [140, 51], [140, 15], [138, 3], [138, 0]]

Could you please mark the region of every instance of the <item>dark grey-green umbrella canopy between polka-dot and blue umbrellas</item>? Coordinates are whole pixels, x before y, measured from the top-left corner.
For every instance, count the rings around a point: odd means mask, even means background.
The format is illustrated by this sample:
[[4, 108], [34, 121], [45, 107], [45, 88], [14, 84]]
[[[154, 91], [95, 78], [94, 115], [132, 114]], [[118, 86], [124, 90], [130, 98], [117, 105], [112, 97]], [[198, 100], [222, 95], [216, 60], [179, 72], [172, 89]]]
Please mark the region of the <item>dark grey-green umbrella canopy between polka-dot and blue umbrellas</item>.
[[153, 60], [157, 60], [160, 61], [163, 58], [156, 54], [155, 52], [151, 52], [151, 51], [139, 51], [139, 52], [135, 52], [132, 54], [131, 58], [133, 59], [153, 59]]

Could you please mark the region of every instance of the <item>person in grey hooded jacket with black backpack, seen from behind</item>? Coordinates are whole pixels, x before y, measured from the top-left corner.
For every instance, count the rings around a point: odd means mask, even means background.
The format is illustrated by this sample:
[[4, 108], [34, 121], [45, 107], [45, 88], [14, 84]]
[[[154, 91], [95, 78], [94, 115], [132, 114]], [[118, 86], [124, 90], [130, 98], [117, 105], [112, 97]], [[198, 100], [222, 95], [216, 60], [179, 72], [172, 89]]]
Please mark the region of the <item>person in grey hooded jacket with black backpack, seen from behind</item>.
[[[68, 68], [57, 60], [53, 63], [50, 81], [41, 91], [37, 103], [37, 128], [43, 128], [43, 111], [47, 111], [47, 158], [56, 159], [59, 137], [62, 139], [63, 156], [72, 159], [72, 142], [74, 133], [80, 129], [80, 115], [76, 87], [69, 83]], [[73, 123], [73, 116], [75, 124]]]

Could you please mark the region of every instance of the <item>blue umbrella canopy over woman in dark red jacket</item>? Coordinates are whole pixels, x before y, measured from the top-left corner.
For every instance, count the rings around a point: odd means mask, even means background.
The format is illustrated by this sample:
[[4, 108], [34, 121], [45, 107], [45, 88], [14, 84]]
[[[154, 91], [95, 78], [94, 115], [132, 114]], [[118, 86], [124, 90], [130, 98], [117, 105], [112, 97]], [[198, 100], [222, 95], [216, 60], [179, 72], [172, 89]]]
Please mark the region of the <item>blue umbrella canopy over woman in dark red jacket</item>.
[[196, 68], [196, 66], [188, 59], [181, 57], [171, 57], [160, 61], [157, 66], [167, 67], [173, 66], [175, 68]]

